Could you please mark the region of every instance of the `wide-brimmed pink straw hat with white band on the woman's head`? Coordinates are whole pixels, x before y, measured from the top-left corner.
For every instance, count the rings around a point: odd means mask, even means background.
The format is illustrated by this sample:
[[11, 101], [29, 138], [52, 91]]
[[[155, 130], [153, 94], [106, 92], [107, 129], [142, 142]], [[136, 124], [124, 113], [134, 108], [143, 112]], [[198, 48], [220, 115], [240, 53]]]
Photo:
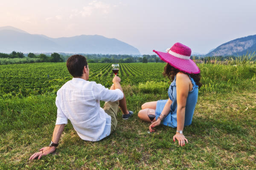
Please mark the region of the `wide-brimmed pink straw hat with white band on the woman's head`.
[[189, 74], [198, 74], [200, 69], [198, 66], [190, 59], [191, 49], [186, 45], [179, 42], [175, 43], [172, 48], [167, 48], [167, 53], [153, 50], [164, 62], [169, 63], [173, 67], [179, 69], [180, 71]]

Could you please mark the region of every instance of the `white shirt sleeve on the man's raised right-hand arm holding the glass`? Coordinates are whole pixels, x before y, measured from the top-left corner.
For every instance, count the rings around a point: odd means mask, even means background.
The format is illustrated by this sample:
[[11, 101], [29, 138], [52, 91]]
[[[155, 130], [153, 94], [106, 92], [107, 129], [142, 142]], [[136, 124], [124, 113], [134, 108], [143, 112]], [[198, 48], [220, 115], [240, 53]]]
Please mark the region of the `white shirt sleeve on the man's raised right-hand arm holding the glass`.
[[124, 97], [123, 92], [120, 89], [109, 90], [101, 84], [96, 84], [93, 86], [93, 95], [97, 100], [102, 100], [105, 102], [115, 102], [121, 100]]

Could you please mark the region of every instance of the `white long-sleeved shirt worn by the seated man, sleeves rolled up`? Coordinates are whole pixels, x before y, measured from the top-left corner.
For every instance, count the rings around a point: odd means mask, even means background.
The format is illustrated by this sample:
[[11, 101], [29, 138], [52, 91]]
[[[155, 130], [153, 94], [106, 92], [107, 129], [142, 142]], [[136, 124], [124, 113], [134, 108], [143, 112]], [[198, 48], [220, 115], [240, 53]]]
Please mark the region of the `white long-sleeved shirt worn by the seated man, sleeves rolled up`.
[[119, 89], [109, 90], [96, 82], [73, 78], [57, 92], [56, 125], [67, 124], [69, 119], [81, 139], [99, 141], [111, 131], [111, 116], [99, 101], [115, 102], [123, 97]]

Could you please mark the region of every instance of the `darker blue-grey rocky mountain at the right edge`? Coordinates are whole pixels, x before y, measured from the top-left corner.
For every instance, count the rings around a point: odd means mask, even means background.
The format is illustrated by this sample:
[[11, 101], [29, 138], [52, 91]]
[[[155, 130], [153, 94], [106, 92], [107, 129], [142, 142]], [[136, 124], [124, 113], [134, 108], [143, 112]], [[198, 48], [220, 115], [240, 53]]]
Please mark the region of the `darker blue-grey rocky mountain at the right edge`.
[[254, 51], [256, 51], [256, 35], [250, 35], [221, 44], [206, 56], [237, 56]]

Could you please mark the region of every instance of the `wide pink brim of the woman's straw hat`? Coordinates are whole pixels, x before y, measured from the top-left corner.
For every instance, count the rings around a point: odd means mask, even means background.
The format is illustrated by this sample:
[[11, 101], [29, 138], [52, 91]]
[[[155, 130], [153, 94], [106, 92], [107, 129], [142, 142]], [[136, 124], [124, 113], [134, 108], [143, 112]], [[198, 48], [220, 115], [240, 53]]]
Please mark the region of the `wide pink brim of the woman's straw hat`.
[[180, 59], [169, 53], [164, 53], [164, 52], [155, 51], [155, 50], [153, 51], [160, 57], [161, 60], [169, 63], [170, 65], [172, 65], [173, 67], [177, 68], [180, 71], [183, 71], [189, 74], [200, 73], [200, 69], [195, 64], [195, 62], [193, 62], [192, 59]]

